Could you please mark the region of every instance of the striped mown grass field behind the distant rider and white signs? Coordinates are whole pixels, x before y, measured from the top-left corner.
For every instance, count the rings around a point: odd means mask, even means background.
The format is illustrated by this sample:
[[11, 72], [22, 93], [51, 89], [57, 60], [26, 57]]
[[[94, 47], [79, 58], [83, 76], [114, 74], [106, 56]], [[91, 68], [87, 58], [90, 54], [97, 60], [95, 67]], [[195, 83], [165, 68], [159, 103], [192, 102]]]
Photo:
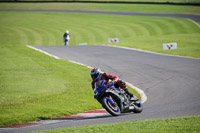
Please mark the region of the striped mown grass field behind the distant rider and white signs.
[[[0, 12], [0, 17], [0, 35], [12, 38], [1, 38], [1, 44], [63, 45], [68, 29], [70, 45], [108, 44], [117, 37], [121, 46], [200, 57], [200, 28], [182, 18], [39, 12]], [[163, 51], [162, 44], [171, 42], [178, 49]]]

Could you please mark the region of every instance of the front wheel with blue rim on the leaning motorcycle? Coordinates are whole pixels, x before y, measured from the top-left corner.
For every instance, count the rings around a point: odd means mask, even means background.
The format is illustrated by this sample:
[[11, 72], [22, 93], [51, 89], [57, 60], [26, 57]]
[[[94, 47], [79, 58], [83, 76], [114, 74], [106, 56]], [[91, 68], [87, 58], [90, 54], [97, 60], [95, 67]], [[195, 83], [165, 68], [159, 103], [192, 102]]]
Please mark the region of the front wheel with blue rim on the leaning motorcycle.
[[[112, 100], [113, 103], [110, 100]], [[103, 108], [106, 109], [106, 111], [110, 113], [111, 115], [118, 116], [121, 114], [121, 111], [117, 103], [110, 97], [103, 97], [101, 100], [101, 104]]]

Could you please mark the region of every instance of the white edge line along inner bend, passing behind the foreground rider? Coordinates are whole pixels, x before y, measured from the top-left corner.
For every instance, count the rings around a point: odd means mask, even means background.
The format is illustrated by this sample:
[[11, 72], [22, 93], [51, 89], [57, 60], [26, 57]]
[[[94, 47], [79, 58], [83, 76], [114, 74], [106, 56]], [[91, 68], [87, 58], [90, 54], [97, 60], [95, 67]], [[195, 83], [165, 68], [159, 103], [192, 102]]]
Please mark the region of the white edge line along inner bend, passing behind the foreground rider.
[[[55, 56], [55, 55], [52, 55], [52, 54], [50, 54], [50, 53], [48, 53], [48, 52], [46, 52], [46, 51], [43, 51], [43, 50], [38, 49], [38, 48], [35, 48], [35, 47], [33, 47], [33, 46], [30, 46], [30, 45], [26, 45], [26, 46], [29, 47], [29, 48], [31, 48], [31, 49], [34, 49], [34, 50], [36, 50], [36, 51], [40, 51], [41, 53], [44, 53], [44, 54], [46, 54], [46, 55], [48, 55], [48, 56], [50, 56], [50, 57], [54, 57], [54, 58], [56, 58], [56, 59], [61, 59], [60, 57], [57, 57], [57, 56]], [[72, 63], [75, 63], [75, 64], [78, 64], [78, 65], [81, 65], [81, 66], [86, 66], [86, 67], [88, 67], [88, 68], [93, 68], [93, 67], [91, 67], [91, 66], [88, 66], [88, 65], [85, 65], [85, 64], [82, 64], [82, 63], [73, 61], [73, 60], [68, 60], [68, 61], [70, 61], [70, 62], [72, 62]], [[130, 86], [132, 89], [136, 90], [136, 91], [139, 93], [139, 95], [140, 95], [140, 97], [141, 97], [141, 102], [142, 102], [142, 103], [145, 103], [145, 102], [147, 101], [147, 96], [145, 95], [145, 93], [144, 93], [143, 90], [137, 88], [136, 86], [134, 86], [134, 85], [132, 85], [132, 84], [130, 84], [130, 83], [128, 83], [128, 82], [126, 82], [126, 83], [127, 83], [128, 86]]]

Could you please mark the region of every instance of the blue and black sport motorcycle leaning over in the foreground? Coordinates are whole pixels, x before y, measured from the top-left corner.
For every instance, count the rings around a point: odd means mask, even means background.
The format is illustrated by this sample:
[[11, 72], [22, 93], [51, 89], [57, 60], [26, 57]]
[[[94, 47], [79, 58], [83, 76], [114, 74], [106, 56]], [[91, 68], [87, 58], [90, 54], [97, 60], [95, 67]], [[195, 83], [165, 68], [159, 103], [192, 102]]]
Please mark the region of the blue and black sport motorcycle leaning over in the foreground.
[[141, 113], [143, 111], [140, 100], [131, 101], [130, 96], [122, 88], [116, 88], [112, 81], [109, 84], [105, 83], [105, 80], [95, 82], [94, 98], [108, 113], [119, 116], [121, 113]]

